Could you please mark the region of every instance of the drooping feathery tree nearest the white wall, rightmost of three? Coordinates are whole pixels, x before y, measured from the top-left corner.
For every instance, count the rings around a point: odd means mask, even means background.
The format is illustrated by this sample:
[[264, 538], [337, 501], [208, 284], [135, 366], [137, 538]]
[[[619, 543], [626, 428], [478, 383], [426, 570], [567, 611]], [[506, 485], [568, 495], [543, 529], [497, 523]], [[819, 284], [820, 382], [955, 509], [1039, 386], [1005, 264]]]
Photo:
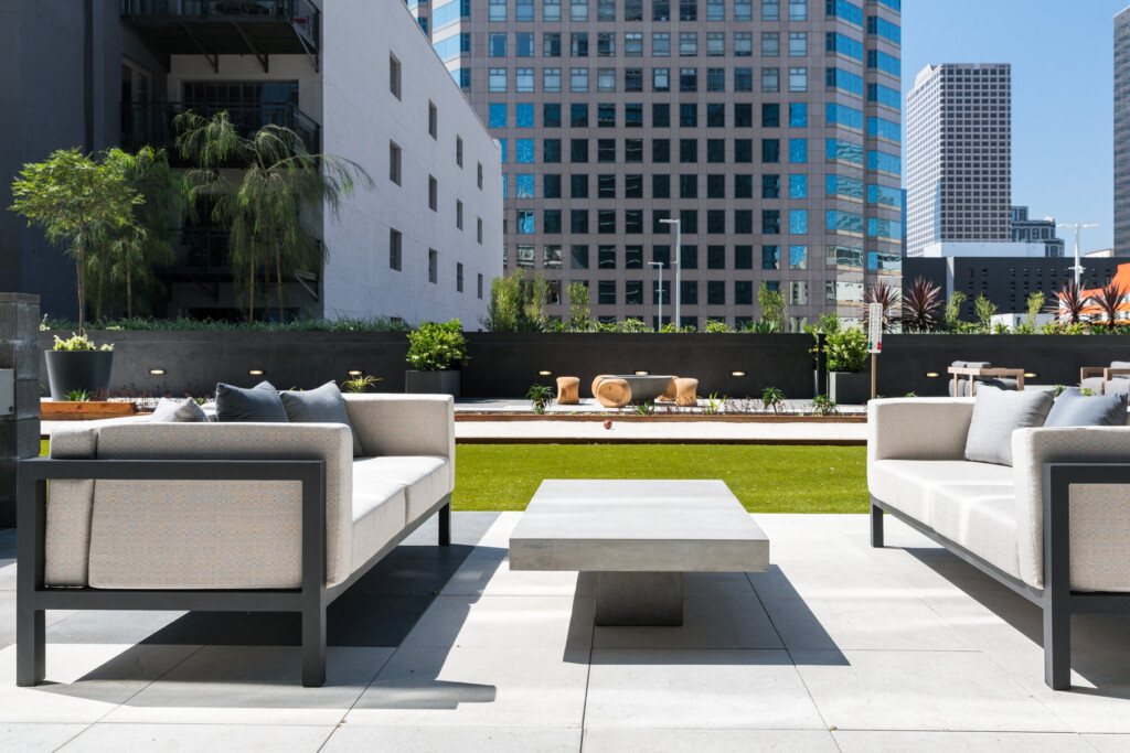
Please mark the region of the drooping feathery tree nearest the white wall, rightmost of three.
[[[188, 174], [194, 195], [210, 199], [210, 219], [231, 228], [228, 253], [237, 282], [246, 286], [247, 321], [254, 321], [260, 269], [267, 280], [273, 272], [284, 318], [284, 277], [321, 270], [325, 262], [325, 247], [304, 218], [323, 208], [337, 218], [356, 183], [372, 190], [373, 178], [357, 163], [308, 152], [302, 137], [281, 125], [243, 135], [226, 112], [206, 119], [191, 111], [177, 115], [175, 125], [177, 148], [195, 163]], [[269, 292], [264, 288], [268, 307]]]

